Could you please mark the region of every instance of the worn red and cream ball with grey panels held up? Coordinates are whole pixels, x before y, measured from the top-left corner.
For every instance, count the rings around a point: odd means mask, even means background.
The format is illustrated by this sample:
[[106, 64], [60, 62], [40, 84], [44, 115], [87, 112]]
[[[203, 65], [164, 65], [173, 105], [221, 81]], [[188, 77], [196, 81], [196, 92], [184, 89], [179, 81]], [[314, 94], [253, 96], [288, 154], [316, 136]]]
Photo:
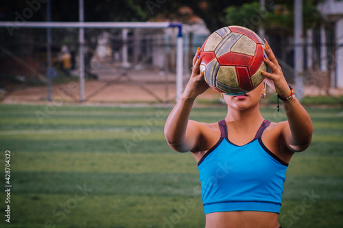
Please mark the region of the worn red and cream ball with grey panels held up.
[[200, 49], [200, 71], [211, 88], [222, 94], [245, 94], [259, 86], [266, 71], [264, 44], [254, 31], [241, 26], [218, 29]]

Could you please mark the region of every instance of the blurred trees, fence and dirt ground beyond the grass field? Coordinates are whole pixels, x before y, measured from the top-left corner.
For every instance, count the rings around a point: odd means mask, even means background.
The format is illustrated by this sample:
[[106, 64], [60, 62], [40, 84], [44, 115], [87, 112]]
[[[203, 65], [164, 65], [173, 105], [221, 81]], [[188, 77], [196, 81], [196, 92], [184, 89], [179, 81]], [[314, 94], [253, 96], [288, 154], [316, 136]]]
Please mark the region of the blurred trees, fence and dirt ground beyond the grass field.
[[[57, 88], [64, 91], [68, 101], [175, 100], [178, 27], [86, 28], [82, 46], [79, 28], [20, 27], [30, 21], [80, 21], [78, 1], [51, 1], [50, 10], [48, 3], [1, 3], [0, 20], [12, 21], [0, 27], [1, 101], [60, 99]], [[183, 84], [193, 54], [209, 34], [226, 25], [248, 27], [268, 40], [290, 84], [294, 84], [295, 72], [299, 72], [305, 81], [305, 95], [342, 94], [342, 1], [303, 1], [303, 23], [299, 21], [303, 29], [298, 40], [294, 40], [294, 1], [261, 3], [84, 1], [82, 17], [86, 22], [181, 22]], [[84, 47], [84, 99], [76, 89], [71, 91], [64, 85], [79, 80], [80, 47]], [[295, 47], [300, 47], [302, 55], [298, 70]], [[50, 80], [54, 89], [47, 94], [44, 86]], [[113, 90], [119, 93], [108, 96]], [[211, 92], [209, 96], [217, 95]]]

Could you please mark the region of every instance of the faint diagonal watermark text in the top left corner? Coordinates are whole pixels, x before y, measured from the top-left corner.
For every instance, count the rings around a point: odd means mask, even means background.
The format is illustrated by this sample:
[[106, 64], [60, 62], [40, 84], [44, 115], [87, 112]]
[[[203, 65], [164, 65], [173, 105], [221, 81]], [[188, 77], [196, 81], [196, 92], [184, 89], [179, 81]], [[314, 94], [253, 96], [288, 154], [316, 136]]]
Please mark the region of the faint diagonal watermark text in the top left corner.
[[34, 16], [34, 12], [40, 10], [42, 3], [47, 3], [47, 0], [27, 0], [25, 3], [28, 5], [27, 8], [24, 8], [21, 13], [18, 11], [14, 12], [16, 18], [14, 19], [14, 23], [5, 23], [6, 28], [10, 36], [13, 36], [13, 31], [18, 30], [20, 24], [26, 23], [27, 19], [32, 18]]

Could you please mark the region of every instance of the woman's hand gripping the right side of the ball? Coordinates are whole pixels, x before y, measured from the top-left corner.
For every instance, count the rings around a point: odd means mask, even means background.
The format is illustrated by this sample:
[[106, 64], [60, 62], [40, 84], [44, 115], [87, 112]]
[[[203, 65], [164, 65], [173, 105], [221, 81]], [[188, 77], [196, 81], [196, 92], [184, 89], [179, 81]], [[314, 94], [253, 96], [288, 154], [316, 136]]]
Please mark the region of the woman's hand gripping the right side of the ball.
[[265, 43], [265, 53], [267, 53], [268, 58], [264, 58], [265, 64], [267, 64], [271, 69], [272, 73], [268, 73], [266, 71], [261, 71], [263, 75], [265, 75], [265, 81], [271, 88], [274, 88], [277, 94], [280, 97], [289, 97], [291, 94], [291, 90], [287, 84], [285, 77], [283, 76], [281, 66], [279, 62], [276, 60], [275, 55], [270, 48], [268, 42], [264, 40]]

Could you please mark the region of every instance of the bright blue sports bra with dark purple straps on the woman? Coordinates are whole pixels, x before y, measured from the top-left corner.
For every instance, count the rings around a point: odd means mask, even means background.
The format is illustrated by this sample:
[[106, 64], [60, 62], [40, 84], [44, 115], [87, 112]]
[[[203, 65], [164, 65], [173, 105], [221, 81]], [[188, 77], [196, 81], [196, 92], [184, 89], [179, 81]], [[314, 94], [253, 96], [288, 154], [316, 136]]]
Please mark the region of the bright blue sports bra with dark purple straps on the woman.
[[263, 121], [255, 138], [243, 146], [228, 140], [225, 120], [220, 140], [198, 162], [204, 213], [260, 211], [280, 213], [288, 164], [265, 147]]

